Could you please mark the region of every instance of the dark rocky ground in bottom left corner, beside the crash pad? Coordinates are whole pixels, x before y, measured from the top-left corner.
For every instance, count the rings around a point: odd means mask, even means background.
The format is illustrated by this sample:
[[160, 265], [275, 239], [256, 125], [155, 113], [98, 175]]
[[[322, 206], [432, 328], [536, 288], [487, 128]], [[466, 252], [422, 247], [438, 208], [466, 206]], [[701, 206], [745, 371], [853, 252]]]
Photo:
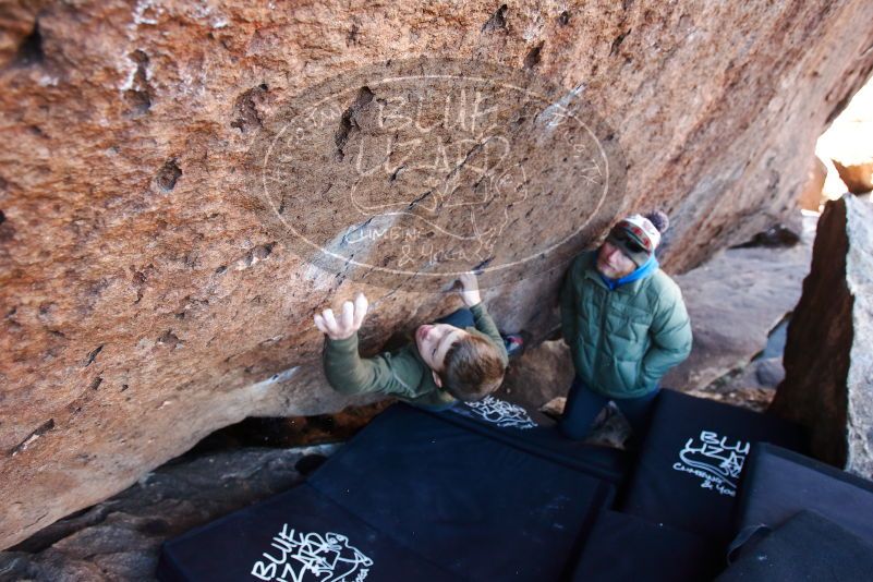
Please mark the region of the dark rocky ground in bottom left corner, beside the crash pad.
[[165, 539], [288, 489], [301, 478], [298, 468], [335, 449], [242, 448], [179, 459], [0, 551], [0, 581], [155, 580]]

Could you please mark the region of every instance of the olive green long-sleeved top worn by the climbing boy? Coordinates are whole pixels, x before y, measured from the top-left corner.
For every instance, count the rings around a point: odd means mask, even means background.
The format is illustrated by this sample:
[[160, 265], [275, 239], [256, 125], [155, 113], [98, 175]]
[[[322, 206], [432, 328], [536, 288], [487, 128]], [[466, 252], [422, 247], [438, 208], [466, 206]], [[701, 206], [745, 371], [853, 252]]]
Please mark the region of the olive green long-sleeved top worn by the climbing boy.
[[[470, 311], [473, 312], [476, 327], [468, 327], [466, 330], [487, 337], [506, 365], [509, 359], [504, 340], [485, 305], [477, 303]], [[453, 396], [434, 383], [431, 367], [422, 360], [414, 341], [395, 352], [361, 357], [357, 353], [357, 334], [341, 340], [328, 338], [323, 362], [327, 381], [344, 395], [379, 392], [425, 408], [444, 408], [457, 402]]]

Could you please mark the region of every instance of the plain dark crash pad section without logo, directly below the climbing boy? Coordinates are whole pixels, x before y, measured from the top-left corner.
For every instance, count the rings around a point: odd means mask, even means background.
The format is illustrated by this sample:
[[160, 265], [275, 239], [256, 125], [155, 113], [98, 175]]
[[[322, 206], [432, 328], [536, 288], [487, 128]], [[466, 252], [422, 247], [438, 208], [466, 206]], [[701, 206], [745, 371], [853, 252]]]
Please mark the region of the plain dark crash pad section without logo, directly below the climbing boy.
[[397, 404], [310, 477], [380, 532], [469, 580], [557, 580], [614, 488]]

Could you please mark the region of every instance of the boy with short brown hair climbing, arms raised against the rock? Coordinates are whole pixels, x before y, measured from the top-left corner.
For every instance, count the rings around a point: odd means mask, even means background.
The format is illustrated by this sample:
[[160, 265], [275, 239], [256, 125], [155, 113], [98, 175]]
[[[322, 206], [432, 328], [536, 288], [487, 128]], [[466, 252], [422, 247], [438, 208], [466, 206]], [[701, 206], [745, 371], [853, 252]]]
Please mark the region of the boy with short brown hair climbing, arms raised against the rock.
[[475, 275], [462, 275], [460, 283], [469, 310], [420, 326], [414, 342], [374, 357], [357, 353], [357, 330], [367, 312], [362, 293], [343, 303], [339, 316], [331, 310], [316, 314], [315, 326], [327, 335], [323, 361], [330, 386], [344, 395], [379, 392], [437, 410], [499, 388], [508, 363], [504, 340], [482, 303]]

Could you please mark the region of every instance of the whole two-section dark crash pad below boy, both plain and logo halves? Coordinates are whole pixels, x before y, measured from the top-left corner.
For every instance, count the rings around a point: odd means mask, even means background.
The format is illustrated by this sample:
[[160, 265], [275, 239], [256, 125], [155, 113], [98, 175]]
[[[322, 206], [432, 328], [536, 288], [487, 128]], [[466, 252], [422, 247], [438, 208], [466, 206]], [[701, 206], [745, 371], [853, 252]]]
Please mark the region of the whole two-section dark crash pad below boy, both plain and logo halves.
[[[342, 582], [558, 580], [613, 497], [610, 484], [583, 471], [396, 404], [306, 484], [165, 544], [159, 578], [257, 580], [253, 568], [281, 574], [259, 556], [286, 528], [343, 536], [332, 546], [318, 541], [327, 547], [320, 551], [332, 548], [328, 562], [338, 554], [354, 556], [341, 565], [357, 560], [353, 577], [336, 579]], [[303, 562], [322, 563], [306, 551]]]

